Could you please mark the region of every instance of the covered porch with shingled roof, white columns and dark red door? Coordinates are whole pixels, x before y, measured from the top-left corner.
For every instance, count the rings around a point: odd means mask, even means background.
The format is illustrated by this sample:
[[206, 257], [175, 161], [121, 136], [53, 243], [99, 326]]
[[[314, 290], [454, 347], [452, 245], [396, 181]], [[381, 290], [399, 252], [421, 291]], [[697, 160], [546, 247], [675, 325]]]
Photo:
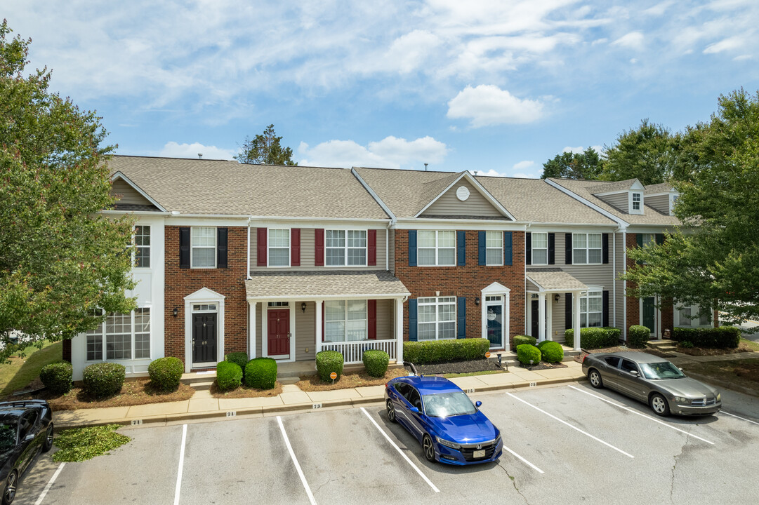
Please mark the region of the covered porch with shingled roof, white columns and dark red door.
[[387, 271], [254, 272], [245, 281], [248, 355], [313, 361], [322, 350], [345, 364], [364, 351], [403, 360], [403, 303], [409, 292]]

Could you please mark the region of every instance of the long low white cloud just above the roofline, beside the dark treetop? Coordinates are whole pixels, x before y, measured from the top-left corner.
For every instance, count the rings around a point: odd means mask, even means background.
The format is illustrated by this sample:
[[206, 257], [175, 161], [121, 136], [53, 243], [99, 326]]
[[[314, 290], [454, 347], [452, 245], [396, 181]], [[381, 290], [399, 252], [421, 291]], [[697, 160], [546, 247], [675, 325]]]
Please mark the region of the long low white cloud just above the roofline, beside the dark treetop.
[[387, 136], [367, 146], [353, 140], [329, 140], [313, 147], [301, 142], [298, 153], [303, 157], [298, 164], [304, 166], [421, 168], [424, 163], [441, 163], [448, 148], [431, 136], [411, 141]]

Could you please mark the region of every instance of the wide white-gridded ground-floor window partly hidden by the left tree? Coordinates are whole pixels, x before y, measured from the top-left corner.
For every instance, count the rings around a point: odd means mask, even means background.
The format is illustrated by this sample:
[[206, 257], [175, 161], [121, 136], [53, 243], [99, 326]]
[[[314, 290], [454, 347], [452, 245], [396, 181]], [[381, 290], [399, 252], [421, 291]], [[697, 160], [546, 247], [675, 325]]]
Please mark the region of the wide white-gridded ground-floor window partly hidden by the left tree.
[[105, 322], [87, 331], [87, 361], [133, 359], [132, 356], [150, 358], [150, 308], [128, 314], [111, 312]]

